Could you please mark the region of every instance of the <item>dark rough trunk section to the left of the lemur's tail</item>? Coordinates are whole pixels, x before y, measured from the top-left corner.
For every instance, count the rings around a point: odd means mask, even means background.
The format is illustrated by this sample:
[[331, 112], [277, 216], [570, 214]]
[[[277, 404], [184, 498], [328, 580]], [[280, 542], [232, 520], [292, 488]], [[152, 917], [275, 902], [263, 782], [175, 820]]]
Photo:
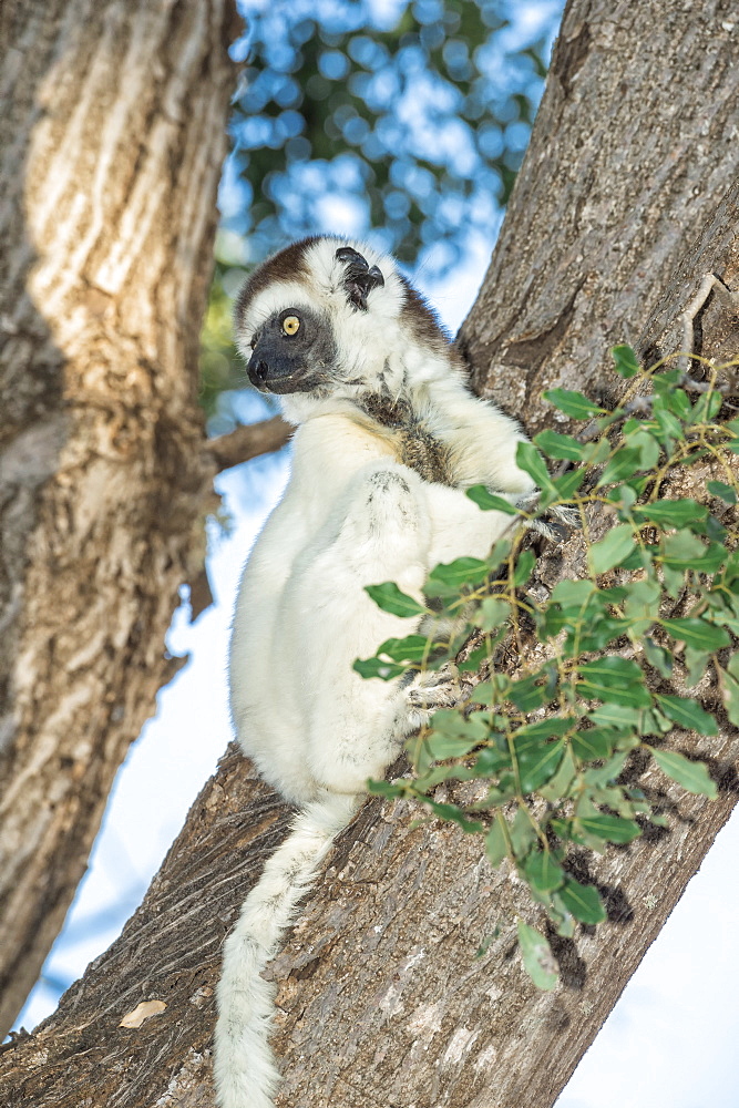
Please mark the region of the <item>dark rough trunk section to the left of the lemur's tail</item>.
[[[64, 995], [71, 1022], [61, 1028], [47, 1020], [45, 1030], [0, 1056], [0, 1102], [212, 1105], [213, 993], [237, 900], [234, 886], [248, 889], [258, 879], [286, 831], [285, 804], [233, 743], [144, 904]], [[120, 1026], [150, 998], [163, 1001], [166, 1009], [138, 1029]]]

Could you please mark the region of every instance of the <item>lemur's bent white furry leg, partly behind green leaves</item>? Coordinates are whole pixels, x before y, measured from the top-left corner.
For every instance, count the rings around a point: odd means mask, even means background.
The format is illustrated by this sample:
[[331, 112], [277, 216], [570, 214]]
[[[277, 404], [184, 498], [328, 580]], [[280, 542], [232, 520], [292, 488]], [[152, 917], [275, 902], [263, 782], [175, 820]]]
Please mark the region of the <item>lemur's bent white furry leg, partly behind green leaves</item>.
[[418, 615], [381, 611], [365, 586], [392, 581], [422, 598], [431, 543], [424, 489], [398, 463], [359, 471], [290, 582], [305, 655], [292, 667], [302, 674], [308, 704], [308, 758], [316, 780], [332, 791], [361, 791], [398, 755], [402, 736], [391, 720], [404, 691], [397, 679], [365, 680], [351, 666], [418, 626]]

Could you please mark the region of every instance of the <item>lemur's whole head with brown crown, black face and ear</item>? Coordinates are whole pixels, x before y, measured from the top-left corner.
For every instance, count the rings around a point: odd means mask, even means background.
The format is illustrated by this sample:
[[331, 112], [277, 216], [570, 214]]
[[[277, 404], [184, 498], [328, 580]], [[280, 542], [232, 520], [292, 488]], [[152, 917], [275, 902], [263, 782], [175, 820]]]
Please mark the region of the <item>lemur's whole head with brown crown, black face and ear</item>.
[[394, 396], [407, 371], [400, 351], [422, 350], [443, 371], [449, 343], [433, 314], [370, 245], [332, 236], [294, 243], [250, 274], [239, 293], [236, 336], [255, 388], [283, 398], [300, 422], [312, 401]]

